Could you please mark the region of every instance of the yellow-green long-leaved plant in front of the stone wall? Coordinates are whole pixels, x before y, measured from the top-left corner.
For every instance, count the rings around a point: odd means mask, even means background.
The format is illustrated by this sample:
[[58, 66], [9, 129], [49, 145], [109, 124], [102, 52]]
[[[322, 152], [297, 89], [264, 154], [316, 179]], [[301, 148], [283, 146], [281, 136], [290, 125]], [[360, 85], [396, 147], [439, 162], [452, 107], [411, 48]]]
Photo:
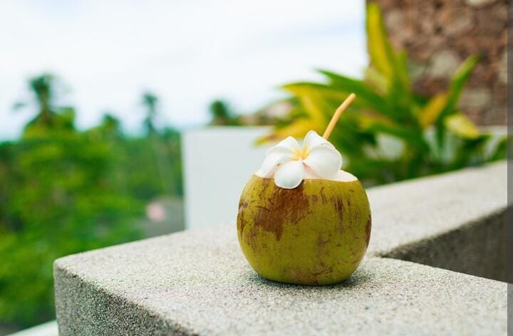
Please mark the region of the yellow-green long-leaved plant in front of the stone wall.
[[[328, 70], [322, 83], [290, 83], [284, 89], [294, 104], [288, 122], [259, 140], [303, 137], [308, 130], [323, 132], [333, 111], [356, 93], [330, 141], [341, 151], [346, 167], [366, 184], [381, 184], [481, 164], [505, 157], [507, 140], [493, 149], [458, 110], [457, 103], [477, 56], [467, 58], [452, 75], [446, 92], [426, 98], [413, 93], [408, 60], [388, 41], [379, 7], [367, 8], [366, 30], [371, 66], [357, 80]], [[392, 147], [397, 147], [394, 150]]]

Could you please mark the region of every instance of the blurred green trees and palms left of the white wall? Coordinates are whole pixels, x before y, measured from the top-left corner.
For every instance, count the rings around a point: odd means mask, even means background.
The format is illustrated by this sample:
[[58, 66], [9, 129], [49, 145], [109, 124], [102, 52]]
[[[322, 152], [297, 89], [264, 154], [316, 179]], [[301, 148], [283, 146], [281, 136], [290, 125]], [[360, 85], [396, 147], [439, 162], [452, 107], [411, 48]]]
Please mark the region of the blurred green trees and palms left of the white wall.
[[56, 258], [141, 238], [147, 201], [182, 194], [175, 130], [125, 137], [105, 115], [78, 131], [72, 109], [54, 104], [55, 83], [30, 81], [36, 117], [20, 140], [0, 143], [0, 323], [51, 320]]

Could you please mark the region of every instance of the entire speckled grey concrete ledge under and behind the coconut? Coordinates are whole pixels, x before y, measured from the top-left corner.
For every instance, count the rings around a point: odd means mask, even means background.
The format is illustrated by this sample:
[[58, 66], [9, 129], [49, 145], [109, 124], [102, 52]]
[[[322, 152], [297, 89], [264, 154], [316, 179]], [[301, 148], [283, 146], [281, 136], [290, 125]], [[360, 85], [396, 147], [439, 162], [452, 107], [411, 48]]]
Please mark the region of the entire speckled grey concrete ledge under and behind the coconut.
[[[425, 241], [432, 241], [425, 251], [437, 250], [437, 237], [451, 241], [445, 245], [453, 246], [453, 251], [465, 247], [465, 239], [458, 247], [454, 243], [458, 235], [447, 235], [465, 226], [501, 223], [492, 219], [507, 208], [505, 189], [502, 162], [371, 190], [374, 220], [368, 258], [350, 279], [336, 286], [283, 285], [259, 278], [239, 251], [234, 225], [61, 258], [54, 266], [59, 331], [61, 335], [505, 334], [506, 283], [379, 258], [401, 248], [420, 251], [415, 248], [426, 246]], [[493, 236], [495, 229], [489, 234]], [[442, 259], [443, 255], [433, 258]]]

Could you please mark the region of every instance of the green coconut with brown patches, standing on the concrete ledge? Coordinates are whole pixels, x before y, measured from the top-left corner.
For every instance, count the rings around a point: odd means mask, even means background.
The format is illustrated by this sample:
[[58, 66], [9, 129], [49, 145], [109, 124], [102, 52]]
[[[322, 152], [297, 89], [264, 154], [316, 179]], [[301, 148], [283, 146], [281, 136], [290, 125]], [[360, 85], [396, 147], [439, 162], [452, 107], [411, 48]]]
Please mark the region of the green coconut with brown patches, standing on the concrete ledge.
[[365, 255], [371, 210], [356, 178], [304, 179], [282, 189], [254, 175], [242, 191], [237, 233], [244, 256], [262, 277], [331, 285], [356, 271]]

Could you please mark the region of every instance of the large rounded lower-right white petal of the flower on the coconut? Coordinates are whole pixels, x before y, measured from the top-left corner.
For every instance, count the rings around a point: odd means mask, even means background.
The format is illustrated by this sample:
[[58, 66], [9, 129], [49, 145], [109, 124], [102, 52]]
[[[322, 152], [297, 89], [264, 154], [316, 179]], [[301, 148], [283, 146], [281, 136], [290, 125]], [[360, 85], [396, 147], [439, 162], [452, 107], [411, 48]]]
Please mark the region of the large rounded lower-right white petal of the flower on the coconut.
[[333, 177], [342, 167], [342, 156], [334, 147], [318, 145], [303, 161], [321, 177]]

